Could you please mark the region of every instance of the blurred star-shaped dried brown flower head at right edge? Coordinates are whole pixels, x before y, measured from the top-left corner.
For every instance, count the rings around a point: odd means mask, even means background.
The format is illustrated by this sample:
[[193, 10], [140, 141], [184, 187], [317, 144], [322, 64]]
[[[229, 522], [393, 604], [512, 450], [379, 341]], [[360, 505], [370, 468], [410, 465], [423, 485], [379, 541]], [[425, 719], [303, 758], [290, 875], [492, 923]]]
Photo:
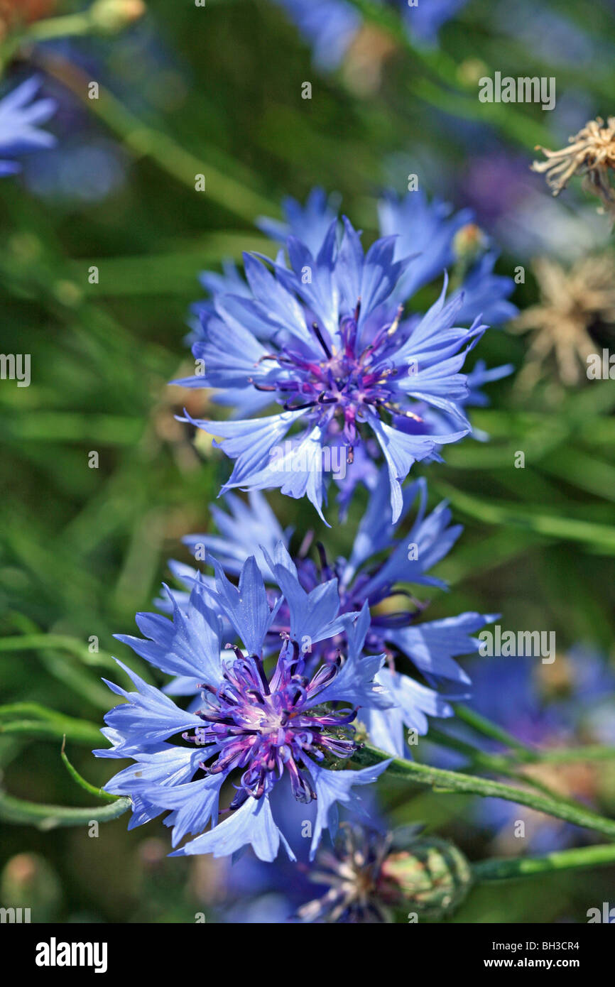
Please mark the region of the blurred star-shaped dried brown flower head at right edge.
[[577, 384], [581, 365], [586, 366], [587, 356], [596, 348], [589, 328], [596, 323], [615, 323], [615, 262], [604, 254], [583, 258], [567, 270], [555, 261], [539, 258], [532, 269], [540, 301], [510, 326], [518, 333], [533, 330], [520, 382], [534, 383], [553, 355], [562, 382]]

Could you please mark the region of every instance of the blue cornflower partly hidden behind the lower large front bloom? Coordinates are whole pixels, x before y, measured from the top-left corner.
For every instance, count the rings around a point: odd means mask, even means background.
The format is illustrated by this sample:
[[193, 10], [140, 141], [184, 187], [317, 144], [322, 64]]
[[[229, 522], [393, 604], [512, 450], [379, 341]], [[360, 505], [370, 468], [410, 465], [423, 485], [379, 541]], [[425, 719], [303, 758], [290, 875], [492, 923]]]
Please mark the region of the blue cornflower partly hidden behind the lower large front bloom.
[[[450, 524], [445, 502], [426, 513], [423, 480], [404, 491], [402, 517], [417, 498], [414, 523], [407, 536], [400, 538], [391, 521], [386, 485], [376, 483], [347, 561], [339, 558], [330, 563], [322, 546], [318, 546], [318, 565], [301, 550], [291, 560], [287, 551], [290, 533], [281, 531], [265, 497], [257, 492], [250, 494], [250, 506], [235, 494], [227, 494], [229, 513], [216, 508], [214, 515], [220, 535], [190, 535], [185, 539], [197, 559], [215, 551], [220, 565], [232, 575], [238, 575], [245, 559], [254, 555], [266, 582], [282, 585], [286, 599], [269, 629], [270, 642], [279, 634], [296, 636], [291, 601], [297, 612], [302, 612], [310, 594], [324, 592], [325, 587], [333, 592], [331, 587], [335, 586], [341, 613], [358, 615], [357, 623], [332, 640], [314, 638], [313, 654], [326, 664], [335, 661], [338, 648], [344, 652], [355, 644], [358, 635], [364, 641], [365, 653], [387, 655], [387, 664], [377, 672], [376, 682], [394, 705], [386, 711], [365, 707], [359, 720], [378, 747], [400, 757], [412, 752], [406, 744], [405, 728], [425, 734], [427, 717], [452, 717], [450, 703], [468, 696], [470, 679], [455, 657], [476, 652], [479, 642], [473, 636], [494, 619], [468, 612], [423, 620], [426, 604], [416, 600], [406, 586], [414, 583], [446, 588], [444, 582], [428, 574], [429, 569], [447, 554], [462, 529]], [[309, 537], [304, 540], [306, 544]], [[171, 563], [171, 569], [189, 587], [198, 580], [204, 579], [205, 585], [213, 582], [182, 564]], [[188, 599], [188, 594], [176, 596], [180, 601]], [[400, 608], [400, 596], [409, 598], [410, 608]], [[169, 691], [193, 695], [195, 682], [178, 679]]]

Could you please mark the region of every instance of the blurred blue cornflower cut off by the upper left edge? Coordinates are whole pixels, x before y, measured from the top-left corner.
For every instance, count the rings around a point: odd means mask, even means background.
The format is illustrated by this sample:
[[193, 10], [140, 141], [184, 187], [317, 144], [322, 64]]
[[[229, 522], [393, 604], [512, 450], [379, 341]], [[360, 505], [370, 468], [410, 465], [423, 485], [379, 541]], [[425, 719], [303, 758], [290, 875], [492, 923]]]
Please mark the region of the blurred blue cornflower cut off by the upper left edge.
[[27, 79], [0, 100], [0, 176], [14, 175], [21, 166], [16, 158], [43, 147], [52, 147], [55, 137], [38, 128], [55, 112], [55, 101], [35, 100], [39, 81]]

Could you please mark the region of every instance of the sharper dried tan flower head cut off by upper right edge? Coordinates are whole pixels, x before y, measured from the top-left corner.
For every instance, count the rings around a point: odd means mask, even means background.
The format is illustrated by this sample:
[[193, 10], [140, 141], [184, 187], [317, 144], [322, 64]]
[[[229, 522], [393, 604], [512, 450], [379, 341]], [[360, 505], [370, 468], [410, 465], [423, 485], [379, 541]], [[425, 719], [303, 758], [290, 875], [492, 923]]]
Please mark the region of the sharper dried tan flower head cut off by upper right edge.
[[606, 124], [601, 116], [585, 123], [570, 144], [561, 151], [549, 151], [536, 147], [546, 156], [546, 161], [534, 161], [532, 171], [547, 176], [547, 185], [554, 195], [566, 188], [573, 175], [584, 178], [583, 188], [597, 195], [604, 210], [615, 221], [615, 188], [611, 184], [611, 172], [615, 171], [615, 116], [609, 116]]

